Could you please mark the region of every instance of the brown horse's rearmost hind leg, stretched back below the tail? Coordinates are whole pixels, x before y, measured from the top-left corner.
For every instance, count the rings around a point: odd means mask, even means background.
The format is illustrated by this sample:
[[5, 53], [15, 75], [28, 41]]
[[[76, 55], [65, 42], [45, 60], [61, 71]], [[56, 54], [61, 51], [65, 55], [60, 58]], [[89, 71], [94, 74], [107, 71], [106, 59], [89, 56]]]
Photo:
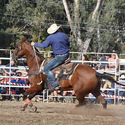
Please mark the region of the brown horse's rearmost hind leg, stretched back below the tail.
[[92, 94], [102, 103], [103, 108], [107, 108], [107, 101], [102, 97], [99, 90], [95, 90], [92, 92]]

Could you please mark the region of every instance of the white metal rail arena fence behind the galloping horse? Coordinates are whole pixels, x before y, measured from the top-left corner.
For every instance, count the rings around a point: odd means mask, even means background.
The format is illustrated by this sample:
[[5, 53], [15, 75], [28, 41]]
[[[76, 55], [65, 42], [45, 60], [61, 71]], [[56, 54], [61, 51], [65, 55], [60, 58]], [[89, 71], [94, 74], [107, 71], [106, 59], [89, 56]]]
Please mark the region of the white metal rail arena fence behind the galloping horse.
[[[23, 66], [23, 65], [18, 65], [17, 67], [6, 67], [6, 64], [7, 63], [10, 63], [11, 60], [12, 60], [12, 51], [13, 50], [7, 50], [7, 49], [0, 49], [0, 52], [2, 51], [2, 54], [0, 56], [0, 59], [2, 60], [3, 64], [1, 64], [0, 66], [0, 69], [9, 69], [9, 75], [8, 76], [4, 76], [4, 75], [0, 75], [0, 78], [8, 78], [9, 80], [6, 82], [3, 82], [2, 80], [0, 81], [0, 88], [8, 88], [8, 93], [6, 94], [1, 94], [1, 95], [12, 95], [11, 93], [11, 88], [29, 88], [30, 86], [27, 85], [27, 86], [24, 86], [24, 85], [21, 85], [21, 84], [14, 84], [14, 83], [11, 83], [11, 79], [12, 78], [28, 78], [27, 76], [26, 77], [18, 77], [18, 76], [15, 76], [15, 75], [11, 75], [11, 71], [12, 69], [28, 69], [27, 66]], [[46, 57], [50, 57], [52, 52], [51, 51], [48, 51], [48, 52], [45, 52], [45, 51], [40, 51], [40, 53], [46, 58]], [[105, 64], [107, 62], [104, 62], [104, 61], [100, 61], [99, 58], [104, 56], [104, 55], [111, 55], [112, 53], [95, 53], [95, 52], [87, 52], [86, 55], [88, 56], [88, 60], [83, 60], [83, 53], [82, 52], [70, 52], [70, 58], [71, 58], [71, 61], [72, 62], [76, 62], [76, 63], [85, 63], [85, 64]], [[118, 57], [118, 55], [115, 53], [115, 55]], [[92, 60], [92, 57], [93, 56], [96, 56], [97, 57], [97, 60], [96, 61], [93, 61]], [[19, 59], [20, 62], [22, 61], [25, 61], [25, 58], [21, 58]], [[114, 63], [117, 67], [117, 62], [111, 62], [111, 63]], [[119, 62], [119, 65], [125, 65], [125, 63], [122, 61]], [[98, 70], [97, 70], [98, 71]], [[103, 72], [103, 71], [99, 71], [99, 72]], [[119, 72], [117, 72], [117, 69], [115, 68], [114, 71], [112, 70], [109, 70], [109, 71], [105, 71], [105, 72], [108, 72], [108, 73], [111, 73], [111, 74], [114, 74], [115, 76], [115, 79], [117, 78], [117, 74], [119, 73], [123, 73], [123, 71], [119, 70]], [[106, 91], [109, 91], [109, 89], [105, 89]], [[116, 85], [114, 87], [114, 89], [110, 89], [110, 91], [113, 91], [114, 92], [114, 96], [108, 96], [107, 94], [102, 94], [106, 99], [113, 99], [114, 100], [114, 103], [116, 103]], [[72, 91], [71, 91], [72, 92]], [[58, 98], [62, 98], [62, 97], [65, 97], [65, 98], [75, 98], [75, 96], [53, 96], [53, 95], [49, 95], [48, 94], [48, 91], [43, 91], [42, 93], [42, 98], [43, 98], [43, 101], [49, 101], [49, 98], [55, 98], [55, 97], [58, 97]], [[87, 96], [86, 98], [94, 98], [92, 96]]]

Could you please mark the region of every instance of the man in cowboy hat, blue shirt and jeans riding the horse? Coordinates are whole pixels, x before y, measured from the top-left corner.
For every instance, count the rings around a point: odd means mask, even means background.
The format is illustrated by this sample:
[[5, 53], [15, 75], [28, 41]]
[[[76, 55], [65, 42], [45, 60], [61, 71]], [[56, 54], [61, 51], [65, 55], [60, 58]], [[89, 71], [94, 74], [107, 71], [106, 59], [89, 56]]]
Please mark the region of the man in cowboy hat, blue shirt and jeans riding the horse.
[[57, 26], [57, 24], [52, 24], [47, 29], [49, 36], [45, 41], [42, 43], [31, 42], [32, 46], [38, 48], [52, 47], [54, 58], [44, 67], [44, 72], [48, 78], [48, 82], [51, 84], [50, 92], [59, 89], [58, 82], [56, 81], [55, 75], [51, 70], [64, 63], [69, 57], [70, 41], [65, 33], [59, 31], [60, 27], [61, 26]]

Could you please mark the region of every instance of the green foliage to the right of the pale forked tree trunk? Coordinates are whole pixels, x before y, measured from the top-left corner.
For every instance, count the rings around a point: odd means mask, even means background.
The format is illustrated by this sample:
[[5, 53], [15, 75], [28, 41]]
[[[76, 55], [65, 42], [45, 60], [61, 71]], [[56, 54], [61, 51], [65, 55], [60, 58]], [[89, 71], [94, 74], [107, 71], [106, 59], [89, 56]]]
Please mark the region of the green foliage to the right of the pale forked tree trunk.
[[[106, 0], [102, 8], [99, 23], [96, 27], [97, 33], [94, 36], [91, 51], [112, 52], [116, 49], [121, 53], [121, 46], [124, 41], [123, 32], [125, 25], [124, 0]], [[99, 35], [99, 37], [98, 37]]]

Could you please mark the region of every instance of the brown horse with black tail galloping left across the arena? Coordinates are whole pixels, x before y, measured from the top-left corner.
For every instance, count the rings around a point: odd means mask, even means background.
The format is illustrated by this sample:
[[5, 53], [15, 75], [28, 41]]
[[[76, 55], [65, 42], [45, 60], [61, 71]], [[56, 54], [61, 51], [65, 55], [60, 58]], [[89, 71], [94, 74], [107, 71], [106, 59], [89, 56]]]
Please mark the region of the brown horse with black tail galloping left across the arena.
[[[26, 37], [23, 37], [22, 40], [17, 44], [12, 58], [14, 60], [17, 60], [24, 55], [26, 56], [27, 65], [29, 67], [28, 79], [31, 87], [24, 93], [26, 99], [21, 106], [21, 110], [25, 111], [25, 108], [29, 105], [34, 111], [36, 111], [37, 107], [33, 105], [31, 99], [45, 88], [44, 85], [47, 81], [46, 75], [44, 73], [38, 73], [39, 67], [44, 61], [44, 57], [34, 52], [34, 48], [27, 41]], [[32, 73], [35, 72], [37, 73], [33, 75]], [[106, 109], [107, 101], [104, 99], [104, 97], [102, 97], [100, 93], [102, 79], [107, 79], [111, 82], [119, 84], [111, 76], [100, 74], [86, 64], [78, 64], [74, 68], [70, 79], [61, 79], [58, 82], [62, 90], [74, 90], [76, 99], [78, 100], [78, 104], [76, 105], [76, 107], [84, 105], [84, 97], [87, 94], [92, 93], [101, 102], [103, 108]], [[39, 85], [38, 83], [40, 83], [41, 81], [42, 84]]]

